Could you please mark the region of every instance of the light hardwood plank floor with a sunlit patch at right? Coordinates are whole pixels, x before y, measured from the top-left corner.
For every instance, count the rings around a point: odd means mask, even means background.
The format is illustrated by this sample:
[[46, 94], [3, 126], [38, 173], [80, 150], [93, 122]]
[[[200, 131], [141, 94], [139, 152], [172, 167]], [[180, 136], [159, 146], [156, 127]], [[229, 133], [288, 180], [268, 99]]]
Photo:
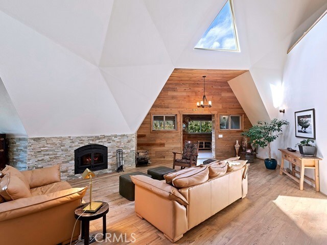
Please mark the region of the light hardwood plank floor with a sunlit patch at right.
[[[146, 173], [150, 167], [125, 173]], [[308, 184], [299, 190], [295, 181], [278, 172], [266, 169], [262, 160], [256, 160], [248, 173], [247, 197], [188, 231], [176, 244], [327, 244], [327, 198]], [[93, 182], [94, 200], [110, 205], [107, 232], [116, 237], [127, 233], [127, 240], [135, 233], [136, 241], [130, 244], [171, 244], [159, 230], [135, 215], [134, 202], [121, 197], [121, 174], [97, 176]], [[74, 187], [88, 185], [85, 180], [70, 183]], [[84, 200], [88, 198], [87, 193]], [[90, 234], [101, 231], [102, 219], [91, 222]], [[101, 244], [128, 243], [110, 241]]]

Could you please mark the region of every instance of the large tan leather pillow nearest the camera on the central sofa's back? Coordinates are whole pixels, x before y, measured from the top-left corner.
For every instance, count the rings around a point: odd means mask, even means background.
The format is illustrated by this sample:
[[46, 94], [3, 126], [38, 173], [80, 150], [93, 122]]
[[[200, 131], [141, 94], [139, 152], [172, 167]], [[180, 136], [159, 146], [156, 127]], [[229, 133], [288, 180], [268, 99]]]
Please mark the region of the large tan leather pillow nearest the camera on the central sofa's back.
[[209, 178], [209, 169], [207, 166], [194, 167], [187, 173], [176, 176], [172, 183], [177, 188], [190, 187], [201, 184]]

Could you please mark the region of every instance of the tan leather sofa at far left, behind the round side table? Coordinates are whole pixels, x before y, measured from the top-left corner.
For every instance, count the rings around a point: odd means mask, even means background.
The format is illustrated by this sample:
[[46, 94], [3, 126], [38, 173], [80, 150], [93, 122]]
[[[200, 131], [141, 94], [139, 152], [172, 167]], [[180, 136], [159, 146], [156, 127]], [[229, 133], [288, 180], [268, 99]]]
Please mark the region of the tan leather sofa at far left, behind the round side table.
[[[2, 176], [13, 170], [9, 168], [3, 169]], [[72, 188], [67, 182], [61, 182], [59, 165], [20, 173], [19, 178], [30, 186], [30, 197], [0, 203], [0, 243], [68, 244], [76, 222], [74, 210], [81, 205], [86, 188]], [[14, 173], [9, 175], [14, 181]], [[0, 184], [6, 184], [2, 183], [7, 181], [5, 177]], [[16, 191], [11, 197], [18, 194]], [[80, 222], [77, 222], [73, 240], [77, 240], [79, 234]]]

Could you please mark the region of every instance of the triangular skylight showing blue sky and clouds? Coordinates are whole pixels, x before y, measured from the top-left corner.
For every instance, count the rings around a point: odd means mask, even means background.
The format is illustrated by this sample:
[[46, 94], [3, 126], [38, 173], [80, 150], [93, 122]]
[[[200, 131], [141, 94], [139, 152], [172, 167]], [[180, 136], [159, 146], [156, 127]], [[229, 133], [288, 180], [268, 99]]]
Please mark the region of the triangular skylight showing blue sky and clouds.
[[231, 0], [220, 10], [194, 48], [239, 51], [234, 11]]

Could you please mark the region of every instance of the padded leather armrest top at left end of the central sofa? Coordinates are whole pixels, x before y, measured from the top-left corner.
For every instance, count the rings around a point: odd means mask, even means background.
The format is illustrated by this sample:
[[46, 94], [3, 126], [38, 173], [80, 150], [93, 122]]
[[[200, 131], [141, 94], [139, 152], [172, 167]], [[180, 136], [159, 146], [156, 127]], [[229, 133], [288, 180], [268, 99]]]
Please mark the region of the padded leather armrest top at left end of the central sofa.
[[181, 205], [188, 205], [189, 203], [186, 201], [186, 199], [182, 196], [181, 193], [178, 192], [178, 190], [159, 180], [151, 179], [148, 176], [144, 175], [131, 175], [131, 179], [135, 185], [141, 186], [147, 190], [150, 190], [154, 192], [157, 195], [160, 195], [161, 197], [164, 197], [169, 200], [175, 200], [176, 202], [180, 203]]

